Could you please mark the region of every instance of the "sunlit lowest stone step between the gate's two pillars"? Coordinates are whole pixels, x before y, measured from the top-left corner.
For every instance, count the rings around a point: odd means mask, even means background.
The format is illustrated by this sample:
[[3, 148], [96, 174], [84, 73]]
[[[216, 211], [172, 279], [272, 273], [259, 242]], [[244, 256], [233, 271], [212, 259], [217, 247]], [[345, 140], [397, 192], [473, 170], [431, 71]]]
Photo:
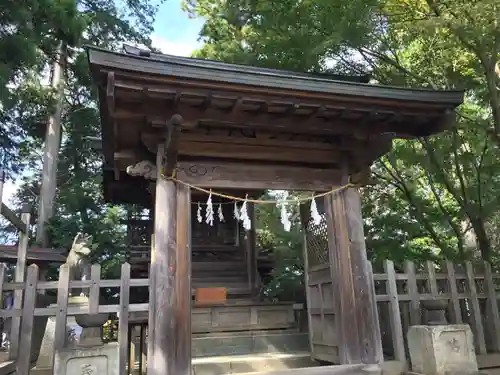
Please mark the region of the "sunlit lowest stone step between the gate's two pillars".
[[308, 352], [297, 352], [194, 358], [192, 365], [193, 375], [229, 375], [314, 367], [317, 363]]

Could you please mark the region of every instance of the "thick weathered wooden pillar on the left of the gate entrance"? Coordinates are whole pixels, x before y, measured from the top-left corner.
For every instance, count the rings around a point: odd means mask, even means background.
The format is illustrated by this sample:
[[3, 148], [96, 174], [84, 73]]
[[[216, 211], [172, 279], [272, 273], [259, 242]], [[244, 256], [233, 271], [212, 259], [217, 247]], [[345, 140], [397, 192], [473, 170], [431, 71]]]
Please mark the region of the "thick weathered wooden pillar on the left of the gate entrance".
[[156, 159], [148, 375], [191, 373], [190, 191], [165, 177], [177, 163], [181, 123], [178, 115], [167, 123], [166, 141]]

